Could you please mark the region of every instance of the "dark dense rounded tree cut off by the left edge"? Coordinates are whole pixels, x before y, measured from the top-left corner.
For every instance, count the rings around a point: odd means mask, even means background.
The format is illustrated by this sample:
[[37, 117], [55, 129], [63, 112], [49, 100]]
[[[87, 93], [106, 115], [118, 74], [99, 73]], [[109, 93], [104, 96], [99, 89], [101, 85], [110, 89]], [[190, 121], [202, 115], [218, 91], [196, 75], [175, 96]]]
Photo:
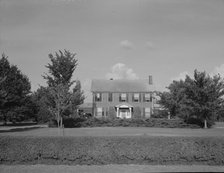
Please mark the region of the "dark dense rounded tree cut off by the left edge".
[[27, 76], [11, 65], [4, 54], [0, 59], [0, 88], [0, 115], [6, 124], [13, 110], [21, 109], [26, 102], [31, 85]]

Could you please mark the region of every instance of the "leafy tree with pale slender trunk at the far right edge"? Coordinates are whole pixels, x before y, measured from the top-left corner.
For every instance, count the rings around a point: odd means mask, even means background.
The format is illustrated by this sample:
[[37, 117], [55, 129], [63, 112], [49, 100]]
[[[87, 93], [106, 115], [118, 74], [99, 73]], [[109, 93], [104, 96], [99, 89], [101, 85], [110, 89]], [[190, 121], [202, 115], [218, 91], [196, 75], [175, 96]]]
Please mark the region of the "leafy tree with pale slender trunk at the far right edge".
[[214, 121], [222, 108], [224, 95], [224, 82], [219, 75], [210, 77], [205, 72], [194, 71], [194, 79], [186, 77], [186, 95], [188, 102], [185, 103], [194, 114], [204, 122]]

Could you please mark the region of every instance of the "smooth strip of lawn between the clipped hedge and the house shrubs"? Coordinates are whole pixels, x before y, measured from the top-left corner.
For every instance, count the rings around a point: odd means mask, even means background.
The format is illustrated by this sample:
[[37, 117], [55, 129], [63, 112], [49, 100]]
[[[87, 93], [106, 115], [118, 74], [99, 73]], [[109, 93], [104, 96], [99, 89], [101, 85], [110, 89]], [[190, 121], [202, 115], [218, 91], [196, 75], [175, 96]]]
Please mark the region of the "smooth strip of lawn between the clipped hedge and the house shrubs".
[[224, 128], [178, 129], [147, 127], [94, 127], [94, 128], [37, 128], [24, 131], [3, 132], [0, 136], [220, 136], [224, 137]]

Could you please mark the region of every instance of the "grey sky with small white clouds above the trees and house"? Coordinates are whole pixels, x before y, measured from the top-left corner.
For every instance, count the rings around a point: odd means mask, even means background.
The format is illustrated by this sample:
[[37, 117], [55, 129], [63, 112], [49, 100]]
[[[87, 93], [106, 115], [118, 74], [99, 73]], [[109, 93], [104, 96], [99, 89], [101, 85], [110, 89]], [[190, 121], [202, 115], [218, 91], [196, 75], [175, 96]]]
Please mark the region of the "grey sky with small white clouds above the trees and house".
[[224, 76], [224, 1], [0, 0], [0, 53], [32, 90], [59, 49], [77, 53], [87, 95], [93, 78], [151, 74], [163, 90], [196, 68]]

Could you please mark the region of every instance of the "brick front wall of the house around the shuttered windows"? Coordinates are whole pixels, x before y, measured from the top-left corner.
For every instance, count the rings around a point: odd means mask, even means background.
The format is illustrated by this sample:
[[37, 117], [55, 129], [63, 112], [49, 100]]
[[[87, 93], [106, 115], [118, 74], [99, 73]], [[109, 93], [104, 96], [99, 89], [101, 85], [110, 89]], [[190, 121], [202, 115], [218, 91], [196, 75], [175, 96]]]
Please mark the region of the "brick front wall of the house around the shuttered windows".
[[[124, 92], [122, 92], [122, 93], [124, 93]], [[151, 96], [152, 96], [152, 93], [151, 92], [140, 92], [139, 93], [139, 95], [140, 95], [140, 101], [139, 102], [134, 102], [132, 100], [133, 93], [137, 93], [137, 92], [126, 93], [127, 96], [128, 96], [128, 100], [126, 101], [126, 103], [129, 103], [130, 105], [132, 105], [134, 109], [135, 109], [135, 107], [139, 107], [140, 110], [141, 110], [141, 117], [145, 117], [145, 108], [150, 108], [150, 110], [151, 110], [150, 114], [152, 114], [152, 108], [153, 108], [152, 101], [144, 102], [144, 100], [143, 100], [145, 93], [150, 93]], [[115, 106], [117, 106], [121, 103], [124, 103], [124, 102], [121, 102], [119, 100], [120, 99], [120, 94], [121, 93], [113, 93], [113, 99], [112, 99], [111, 102], [109, 102], [108, 101], [108, 96], [109, 96], [108, 93], [106, 93], [106, 92], [101, 93], [101, 97], [102, 97], [101, 101], [95, 101], [96, 93], [93, 93], [93, 112], [94, 112], [94, 116], [99, 117], [99, 116], [97, 116], [97, 107], [98, 107], [98, 108], [103, 108], [103, 116], [108, 117], [110, 107], [115, 107]]]

